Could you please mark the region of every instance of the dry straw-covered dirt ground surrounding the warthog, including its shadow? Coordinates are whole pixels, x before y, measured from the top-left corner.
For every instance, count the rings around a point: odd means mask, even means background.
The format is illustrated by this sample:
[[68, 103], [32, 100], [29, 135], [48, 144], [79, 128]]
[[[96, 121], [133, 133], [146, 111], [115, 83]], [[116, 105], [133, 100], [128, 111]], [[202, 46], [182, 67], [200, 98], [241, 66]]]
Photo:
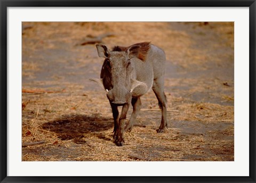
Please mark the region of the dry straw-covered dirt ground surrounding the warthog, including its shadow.
[[[142, 41], [166, 53], [169, 128], [150, 90], [118, 147], [95, 44]], [[23, 22], [22, 161], [234, 161], [234, 23]]]

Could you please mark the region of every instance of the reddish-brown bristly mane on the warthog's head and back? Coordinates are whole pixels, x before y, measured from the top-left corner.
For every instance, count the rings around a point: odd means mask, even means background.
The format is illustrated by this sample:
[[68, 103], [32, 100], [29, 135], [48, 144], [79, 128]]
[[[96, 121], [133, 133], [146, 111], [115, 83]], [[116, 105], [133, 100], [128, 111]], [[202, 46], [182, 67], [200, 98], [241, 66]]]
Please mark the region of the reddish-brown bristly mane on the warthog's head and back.
[[136, 43], [134, 45], [131, 46], [115, 46], [113, 48], [112, 51], [116, 51], [116, 52], [126, 52], [130, 47], [135, 46], [135, 45], [139, 45], [140, 47], [140, 51], [139, 51], [139, 55], [138, 55], [138, 59], [145, 61], [146, 59], [146, 55], [148, 53], [148, 50], [150, 48], [150, 42], [143, 42], [143, 43]]

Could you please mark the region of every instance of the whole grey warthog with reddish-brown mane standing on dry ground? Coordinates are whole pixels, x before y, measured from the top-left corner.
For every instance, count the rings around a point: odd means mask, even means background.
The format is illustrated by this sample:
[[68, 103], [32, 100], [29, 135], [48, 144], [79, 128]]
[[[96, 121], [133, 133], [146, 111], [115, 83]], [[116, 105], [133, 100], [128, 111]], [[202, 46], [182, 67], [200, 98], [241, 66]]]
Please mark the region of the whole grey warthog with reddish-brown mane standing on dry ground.
[[[107, 92], [113, 112], [113, 137], [116, 145], [124, 145], [124, 133], [132, 129], [133, 122], [140, 111], [140, 97], [151, 87], [162, 110], [162, 121], [157, 132], [163, 132], [167, 128], [163, 49], [148, 42], [128, 47], [115, 46], [112, 51], [102, 44], [97, 44], [96, 47], [99, 57], [104, 57], [105, 61], [100, 79], [90, 80], [97, 82]], [[125, 126], [126, 114], [131, 104], [133, 112]], [[118, 106], [123, 106], [120, 115]]]

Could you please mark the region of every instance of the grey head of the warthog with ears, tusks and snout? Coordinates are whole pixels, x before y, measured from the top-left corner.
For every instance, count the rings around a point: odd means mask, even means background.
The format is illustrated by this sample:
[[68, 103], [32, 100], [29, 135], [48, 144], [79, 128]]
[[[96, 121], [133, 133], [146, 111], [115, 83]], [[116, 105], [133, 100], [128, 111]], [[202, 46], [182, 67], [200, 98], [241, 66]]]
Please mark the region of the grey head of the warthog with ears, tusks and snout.
[[131, 101], [134, 88], [141, 86], [146, 89], [144, 82], [136, 80], [133, 57], [138, 57], [140, 47], [134, 45], [126, 51], [109, 51], [105, 45], [96, 45], [99, 57], [104, 57], [101, 79], [91, 79], [97, 82], [107, 92], [111, 103], [123, 105]]

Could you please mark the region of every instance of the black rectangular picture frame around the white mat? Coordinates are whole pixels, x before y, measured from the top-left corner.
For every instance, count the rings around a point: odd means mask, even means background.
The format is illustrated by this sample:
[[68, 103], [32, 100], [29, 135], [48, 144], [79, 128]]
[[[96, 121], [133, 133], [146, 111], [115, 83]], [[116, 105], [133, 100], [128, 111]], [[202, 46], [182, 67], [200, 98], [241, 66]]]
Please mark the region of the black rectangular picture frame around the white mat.
[[[255, 182], [255, 0], [0, 0], [1, 5], [1, 182]], [[7, 176], [7, 7], [249, 7], [250, 12], [250, 176], [248, 177], [10, 177]]]

